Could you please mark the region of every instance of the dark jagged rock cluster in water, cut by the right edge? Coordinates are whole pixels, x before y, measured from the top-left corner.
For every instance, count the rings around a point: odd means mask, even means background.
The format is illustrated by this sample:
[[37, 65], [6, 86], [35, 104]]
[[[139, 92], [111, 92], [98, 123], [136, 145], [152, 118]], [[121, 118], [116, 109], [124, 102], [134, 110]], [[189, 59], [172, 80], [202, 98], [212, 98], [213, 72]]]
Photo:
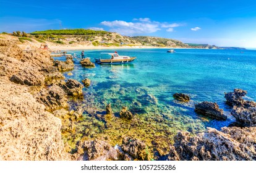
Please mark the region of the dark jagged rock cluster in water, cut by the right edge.
[[238, 122], [246, 126], [256, 125], [256, 102], [248, 101], [242, 97], [247, 91], [234, 89], [234, 92], [225, 93], [226, 103], [233, 106], [231, 114]]

